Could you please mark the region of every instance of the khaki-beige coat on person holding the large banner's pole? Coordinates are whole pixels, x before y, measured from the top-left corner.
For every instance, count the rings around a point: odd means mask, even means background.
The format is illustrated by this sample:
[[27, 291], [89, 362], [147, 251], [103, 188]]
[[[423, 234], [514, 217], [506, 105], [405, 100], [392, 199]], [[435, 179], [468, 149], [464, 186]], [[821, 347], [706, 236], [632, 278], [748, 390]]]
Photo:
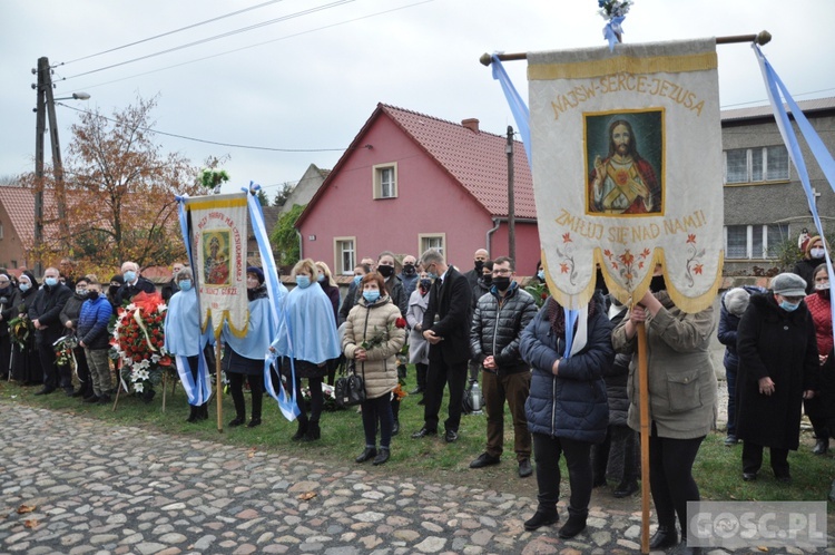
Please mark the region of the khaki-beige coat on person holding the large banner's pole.
[[[708, 345], [716, 325], [714, 309], [687, 314], [665, 292], [657, 293], [664, 308], [647, 318], [649, 419], [658, 436], [690, 439], [706, 436], [716, 422], [717, 383]], [[612, 332], [617, 352], [638, 350], [637, 334], [626, 337], [628, 317]], [[638, 358], [629, 364], [629, 427], [640, 429]]]

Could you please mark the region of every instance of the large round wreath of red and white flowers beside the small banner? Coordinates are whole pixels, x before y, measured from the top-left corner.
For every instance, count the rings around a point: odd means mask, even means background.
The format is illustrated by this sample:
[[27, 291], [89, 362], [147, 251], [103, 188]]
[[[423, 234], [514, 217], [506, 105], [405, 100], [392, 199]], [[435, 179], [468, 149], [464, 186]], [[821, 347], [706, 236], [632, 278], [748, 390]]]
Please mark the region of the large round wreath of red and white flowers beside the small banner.
[[174, 361], [165, 350], [165, 311], [159, 293], [139, 293], [119, 309], [110, 344], [121, 360], [121, 377], [141, 393], [158, 384], [164, 371], [174, 371]]

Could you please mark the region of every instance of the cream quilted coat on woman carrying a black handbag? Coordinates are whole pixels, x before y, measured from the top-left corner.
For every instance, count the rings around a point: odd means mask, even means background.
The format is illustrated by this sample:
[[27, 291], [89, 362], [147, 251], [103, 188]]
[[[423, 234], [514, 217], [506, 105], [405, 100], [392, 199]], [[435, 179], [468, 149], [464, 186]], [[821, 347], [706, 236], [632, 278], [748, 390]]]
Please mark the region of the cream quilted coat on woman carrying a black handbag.
[[356, 363], [356, 372], [364, 377], [369, 399], [389, 395], [397, 387], [396, 354], [406, 340], [405, 329], [395, 324], [400, 318], [400, 309], [392, 304], [389, 295], [383, 295], [371, 306], [360, 298], [345, 320], [342, 339], [345, 358], [353, 360], [363, 341], [376, 343], [366, 350], [366, 360]]

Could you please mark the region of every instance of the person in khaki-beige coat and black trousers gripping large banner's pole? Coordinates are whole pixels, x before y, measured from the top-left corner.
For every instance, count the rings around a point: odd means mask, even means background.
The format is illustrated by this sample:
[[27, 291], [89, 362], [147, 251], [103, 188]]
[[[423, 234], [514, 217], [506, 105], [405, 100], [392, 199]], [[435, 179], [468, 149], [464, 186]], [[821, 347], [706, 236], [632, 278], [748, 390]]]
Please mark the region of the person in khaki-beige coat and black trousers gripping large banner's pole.
[[[660, 266], [649, 291], [612, 332], [617, 352], [637, 350], [638, 325], [647, 333], [649, 387], [649, 487], [658, 515], [651, 549], [678, 544], [676, 517], [687, 536], [687, 502], [699, 500], [692, 464], [716, 419], [717, 383], [710, 362], [713, 306], [688, 314], [669, 294]], [[638, 358], [629, 367], [628, 423], [640, 430]]]

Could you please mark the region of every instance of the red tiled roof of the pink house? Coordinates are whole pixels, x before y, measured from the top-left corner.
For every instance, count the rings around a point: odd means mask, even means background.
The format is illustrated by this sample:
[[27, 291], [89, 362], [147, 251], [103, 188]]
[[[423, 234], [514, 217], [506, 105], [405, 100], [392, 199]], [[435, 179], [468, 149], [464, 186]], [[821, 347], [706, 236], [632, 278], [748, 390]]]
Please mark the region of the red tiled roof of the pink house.
[[[472, 194], [493, 216], [508, 215], [507, 138], [473, 132], [425, 114], [379, 104], [382, 110], [409, 134], [450, 175]], [[373, 118], [373, 116], [372, 116]], [[514, 140], [514, 203], [517, 217], [536, 218], [533, 181], [521, 142]]]

